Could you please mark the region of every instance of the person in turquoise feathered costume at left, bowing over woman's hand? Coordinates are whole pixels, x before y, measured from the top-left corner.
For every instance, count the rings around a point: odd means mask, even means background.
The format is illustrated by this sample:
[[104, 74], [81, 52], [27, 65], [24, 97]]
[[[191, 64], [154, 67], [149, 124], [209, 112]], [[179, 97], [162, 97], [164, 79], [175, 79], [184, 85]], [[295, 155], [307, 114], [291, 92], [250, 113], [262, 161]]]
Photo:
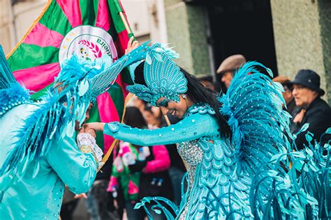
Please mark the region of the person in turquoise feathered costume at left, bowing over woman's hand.
[[76, 143], [75, 125], [124, 67], [145, 56], [140, 49], [115, 63], [108, 56], [82, 61], [73, 55], [61, 65], [55, 87], [32, 102], [0, 47], [0, 219], [59, 219], [65, 184], [75, 194], [88, 191], [102, 151], [88, 132]]

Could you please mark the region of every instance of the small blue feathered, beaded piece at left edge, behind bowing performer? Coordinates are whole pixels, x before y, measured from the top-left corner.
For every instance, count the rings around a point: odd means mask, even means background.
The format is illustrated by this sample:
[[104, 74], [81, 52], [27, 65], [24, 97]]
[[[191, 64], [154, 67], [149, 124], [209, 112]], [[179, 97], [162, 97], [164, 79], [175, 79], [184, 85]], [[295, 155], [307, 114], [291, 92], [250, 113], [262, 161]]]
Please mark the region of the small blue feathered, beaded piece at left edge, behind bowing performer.
[[29, 91], [18, 84], [0, 45], [0, 118], [10, 109], [29, 101]]

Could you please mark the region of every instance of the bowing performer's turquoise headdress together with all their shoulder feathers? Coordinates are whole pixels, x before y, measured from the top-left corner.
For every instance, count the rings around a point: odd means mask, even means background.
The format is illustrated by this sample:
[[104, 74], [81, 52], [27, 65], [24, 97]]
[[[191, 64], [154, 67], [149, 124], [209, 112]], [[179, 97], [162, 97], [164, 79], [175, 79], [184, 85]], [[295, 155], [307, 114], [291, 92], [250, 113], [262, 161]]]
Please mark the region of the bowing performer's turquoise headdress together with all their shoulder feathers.
[[[145, 58], [146, 45], [112, 63], [108, 56], [95, 61], [82, 61], [73, 56], [63, 63], [55, 79], [55, 87], [47, 91], [39, 102], [29, 100], [29, 91], [20, 86], [0, 52], [0, 119], [20, 104], [35, 105], [20, 129], [7, 137], [16, 139], [8, 155], [1, 157], [0, 203], [12, 184], [20, 182], [27, 171], [33, 169], [33, 178], [40, 171], [40, 161], [50, 150], [50, 143], [64, 136], [73, 137], [75, 121], [80, 125], [90, 102], [106, 91], [119, 72], [131, 63]], [[31, 164], [34, 167], [31, 168]]]

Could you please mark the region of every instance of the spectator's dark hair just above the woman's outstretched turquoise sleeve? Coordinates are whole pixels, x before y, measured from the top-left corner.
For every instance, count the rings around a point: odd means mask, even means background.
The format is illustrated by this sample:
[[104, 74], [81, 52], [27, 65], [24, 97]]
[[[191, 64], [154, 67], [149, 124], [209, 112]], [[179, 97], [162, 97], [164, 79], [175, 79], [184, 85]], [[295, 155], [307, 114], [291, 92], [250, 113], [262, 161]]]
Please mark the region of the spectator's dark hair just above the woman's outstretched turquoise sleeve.
[[124, 124], [131, 127], [146, 128], [147, 123], [142, 113], [137, 107], [126, 107], [124, 115]]

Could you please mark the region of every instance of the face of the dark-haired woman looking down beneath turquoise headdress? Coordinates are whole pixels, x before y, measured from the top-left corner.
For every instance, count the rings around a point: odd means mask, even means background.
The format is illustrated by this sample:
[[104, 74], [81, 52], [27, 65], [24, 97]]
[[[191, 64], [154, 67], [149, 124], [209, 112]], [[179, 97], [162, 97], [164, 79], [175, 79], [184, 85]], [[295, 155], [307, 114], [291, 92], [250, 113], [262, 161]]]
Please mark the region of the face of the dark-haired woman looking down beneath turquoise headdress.
[[166, 113], [170, 113], [172, 114], [172, 116], [175, 116], [177, 118], [183, 118], [185, 112], [187, 111], [187, 109], [189, 109], [189, 107], [191, 107], [193, 102], [189, 100], [189, 97], [186, 97], [186, 99], [184, 99], [182, 95], [179, 95], [178, 103], [172, 100], [168, 100], [165, 97], [161, 97], [156, 102], [156, 104], [158, 107], [160, 107], [163, 115], [165, 115]]

